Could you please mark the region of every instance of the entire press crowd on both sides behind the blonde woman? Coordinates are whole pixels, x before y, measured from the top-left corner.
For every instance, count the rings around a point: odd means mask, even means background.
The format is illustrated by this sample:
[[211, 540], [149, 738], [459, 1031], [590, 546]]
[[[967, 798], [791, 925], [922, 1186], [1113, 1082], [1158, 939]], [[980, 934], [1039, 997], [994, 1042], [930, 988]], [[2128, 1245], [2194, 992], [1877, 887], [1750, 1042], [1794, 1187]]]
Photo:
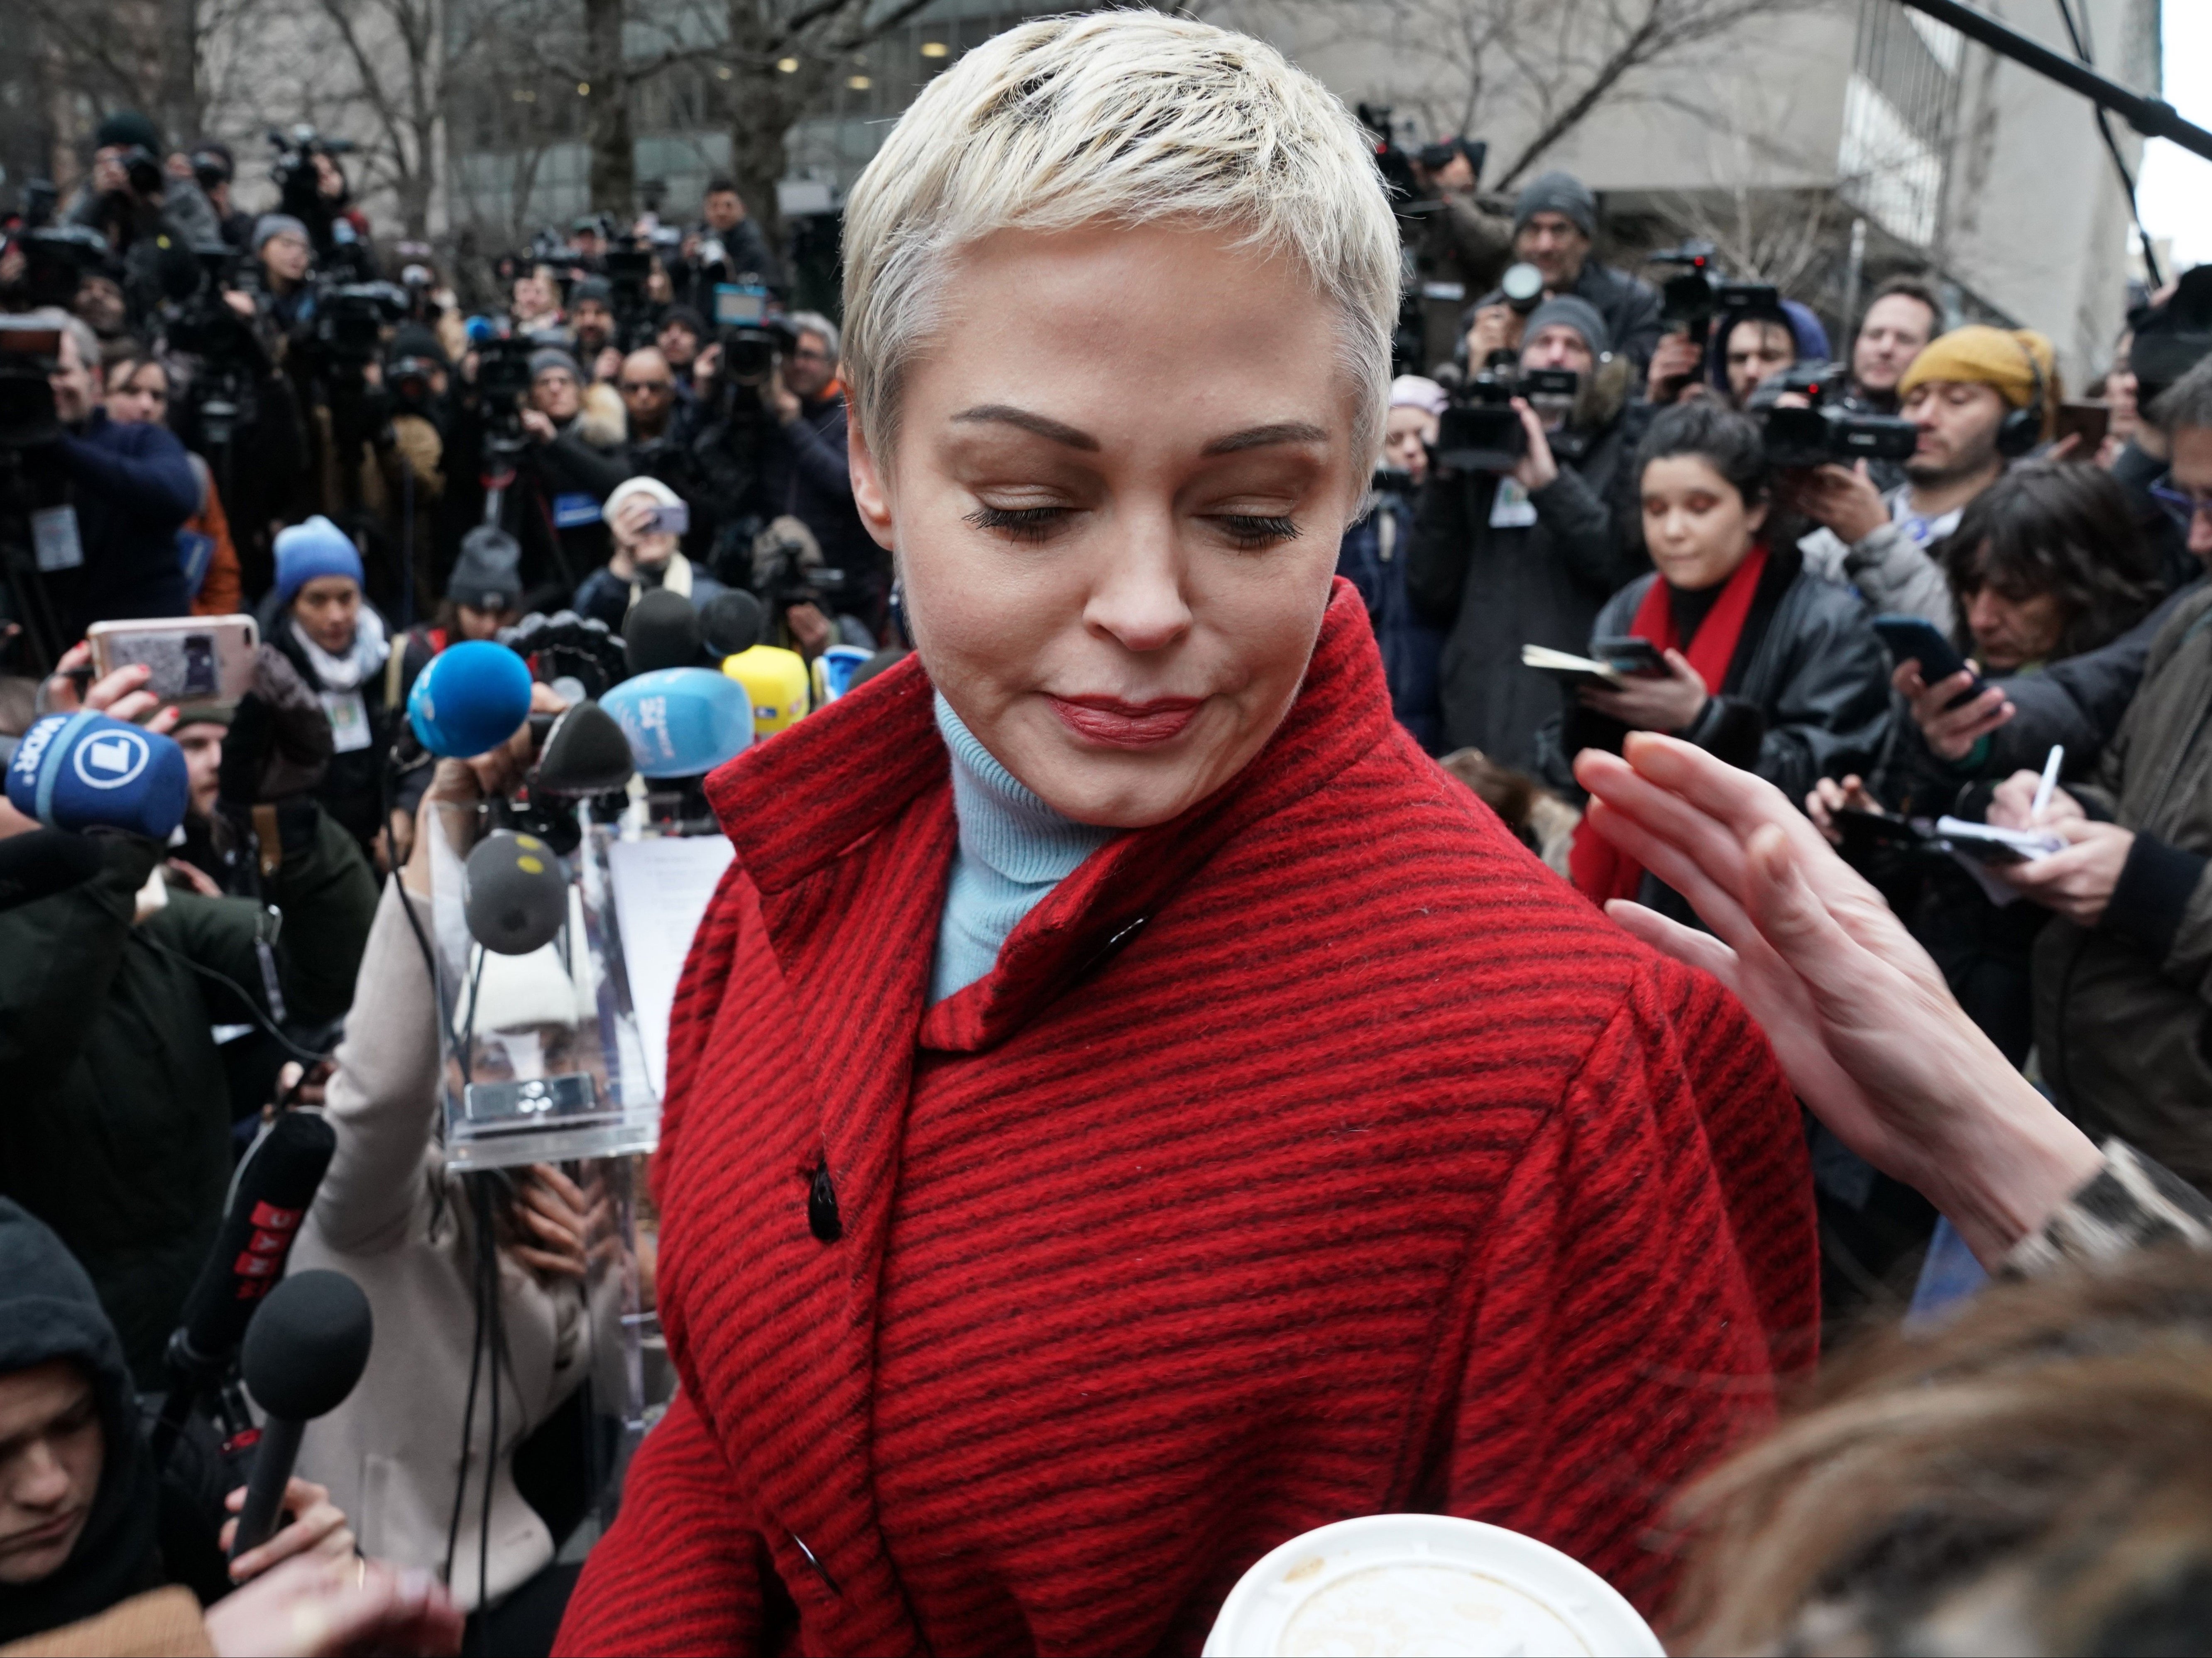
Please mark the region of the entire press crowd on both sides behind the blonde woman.
[[[1396, 161], [1409, 371], [1338, 568], [1400, 723], [1593, 900], [1683, 922], [1584, 833], [1575, 756], [1666, 732], [1774, 783], [2068, 1116], [2212, 1180], [2208, 272], [2146, 296], [2068, 400], [2044, 336], [1953, 325], [1916, 276], [1838, 354], [1710, 250], [1657, 281], [1604, 263], [1566, 172], [1498, 201], [1480, 146]], [[765, 643], [803, 707], [805, 663], [902, 648], [891, 570], [854, 511], [838, 327], [785, 307], [726, 181], [688, 228], [540, 237], [465, 316], [427, 248], [378, 250], [343, 148], [288, 137], [259, 214], [232, 172], [117, 113], [84, 188], [33, 197], [0, 248], [0, 511], [27, 539], [0, 732], [13, 760], [42, 716], [106, 714], [188, 767], [168, 844], [102, 838], [38, 902], [7, 882], [46, 873], [0, 875], [0, 1295], [42, 1309], [0, 1344], [0, 1643], [173, 1583], [215, 1651], [447, 1649], [462, 1618], [544, 1651], [597, 1433], [571, 1399], [604, 1196], [555, 1167], [487, 1196], [431, 1145], [422, 825], [518, 760], [422, 754], [409, 690], [487, 639], [626, 641], [639, 668], [684, 612], [655, 661]], [[728, 595], [741, 641], [701, 623]], [[263, 643], [237, 705], [164, 703], [82, 643], [239, 612]], [[0, 805], [0, 838], [38, 816]], [[303, 1260], [407, 1340], [310, 1437], [290, 1523], [226, 1563], [221, 1448], [155, 1459], [135, 1393], [175, 1382], [279, 1101], [321, 1101], [338, 1138]], [[1940, 1291], [1929, 1203], [1812, 1132], [1829, 1322]], [[513, 1397], [476, 1444], [484, 1260]]]

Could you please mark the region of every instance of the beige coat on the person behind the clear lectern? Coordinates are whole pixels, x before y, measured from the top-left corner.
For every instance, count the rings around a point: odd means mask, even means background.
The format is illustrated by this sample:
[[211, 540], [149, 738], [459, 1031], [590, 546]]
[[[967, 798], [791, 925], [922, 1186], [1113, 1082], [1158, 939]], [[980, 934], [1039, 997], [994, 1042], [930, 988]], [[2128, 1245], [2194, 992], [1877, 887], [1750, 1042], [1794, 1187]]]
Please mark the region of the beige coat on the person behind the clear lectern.
[[[429, 935], [429, 904], [411, 898]], [[429, 966], [387, 882], [354, 988], [354, 1012], [330, 1079], [338, 1150], [292, 1247], [292, 1271], [332, 1267], [376, 1315], [369, 1368], [352, 1397], [307, 1428], [299, 1472], [330, 1486], [361, 1552], [400, 1567], [445, 1570], [460, 1463], [469, 1344], [476, 1333], [476, 1222], [445, 1174], [438, 1125], [438, 1015]], [[491, 1479], [489, 1598], [553, 1559], [553, 1536], [515, 1490], [513, 1452], [582, 1382], [593, 1320], [582, 1287], [546, 1287], [500, 1258], [511, 1368], [502, 1373]], [[469, 1488], [451, 1592], [476, 1607], [482, 1468], [491, 1437], [489, 1364], [478, 1384]]]

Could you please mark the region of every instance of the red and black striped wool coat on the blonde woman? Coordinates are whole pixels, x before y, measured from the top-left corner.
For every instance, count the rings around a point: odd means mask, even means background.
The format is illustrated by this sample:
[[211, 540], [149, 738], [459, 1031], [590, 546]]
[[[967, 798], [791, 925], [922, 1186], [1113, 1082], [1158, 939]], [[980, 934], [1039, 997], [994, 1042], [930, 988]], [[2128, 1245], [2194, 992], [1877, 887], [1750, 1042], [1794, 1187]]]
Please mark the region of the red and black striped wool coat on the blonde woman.
[[925, 1010], [916, 663], [719, 772], [655, 1180], [681, 1395], [562, 1651], [1197, 1651], [1283, 1539], [1648, 1530], [1812, 1360], [1798, 1114], [1391, 723], [1338, 581], [1225, 789]]

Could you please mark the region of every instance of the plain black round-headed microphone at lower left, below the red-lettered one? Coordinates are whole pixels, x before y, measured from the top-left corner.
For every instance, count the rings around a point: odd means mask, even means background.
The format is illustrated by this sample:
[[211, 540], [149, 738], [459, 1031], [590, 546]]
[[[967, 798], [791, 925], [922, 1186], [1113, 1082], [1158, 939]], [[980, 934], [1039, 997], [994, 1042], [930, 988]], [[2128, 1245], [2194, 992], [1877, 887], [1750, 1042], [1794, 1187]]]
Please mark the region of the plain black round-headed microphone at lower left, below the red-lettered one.
[[310, 1421], [345, 1404], [369, 1364], [374, 1335], [369, 1298], [345, 1273], [296, 1273], [261, 1302], [239, 1355], [246, 1391], [261, 1406], [263, 1424], [239, 1534], [230, 1539], [232, 1561], [276, 1530], [299, 1439]]

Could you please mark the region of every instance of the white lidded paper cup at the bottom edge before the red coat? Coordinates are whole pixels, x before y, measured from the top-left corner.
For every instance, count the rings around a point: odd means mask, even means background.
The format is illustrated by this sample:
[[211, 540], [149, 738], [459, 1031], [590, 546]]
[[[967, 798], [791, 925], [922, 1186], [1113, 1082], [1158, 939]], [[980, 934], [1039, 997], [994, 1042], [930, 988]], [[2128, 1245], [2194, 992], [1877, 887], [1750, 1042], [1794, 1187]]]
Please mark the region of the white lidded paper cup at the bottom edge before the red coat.
[[1447, 1514], [1369, 1514], [1294, 1536], [1245, 1572], [1206, 1658], [1666, 1658], [1619, 1592], [1548, 1543]]

